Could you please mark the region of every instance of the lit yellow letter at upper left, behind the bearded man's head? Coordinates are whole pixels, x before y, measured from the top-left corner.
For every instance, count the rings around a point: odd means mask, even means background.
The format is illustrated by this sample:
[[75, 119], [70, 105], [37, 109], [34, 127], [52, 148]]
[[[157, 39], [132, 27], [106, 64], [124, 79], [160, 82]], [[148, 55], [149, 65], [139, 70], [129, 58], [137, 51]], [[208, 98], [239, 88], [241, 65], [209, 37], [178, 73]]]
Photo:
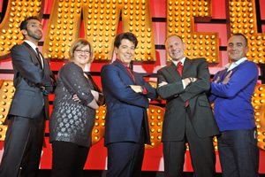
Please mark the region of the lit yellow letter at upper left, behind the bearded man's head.
[[42, 19], [44, 0], [8, 1], [4, 19], [0, 24], [0, 59], [10, 58], [11, 47], [24, 40], [20, 34], [20, 23], [26, 17]]

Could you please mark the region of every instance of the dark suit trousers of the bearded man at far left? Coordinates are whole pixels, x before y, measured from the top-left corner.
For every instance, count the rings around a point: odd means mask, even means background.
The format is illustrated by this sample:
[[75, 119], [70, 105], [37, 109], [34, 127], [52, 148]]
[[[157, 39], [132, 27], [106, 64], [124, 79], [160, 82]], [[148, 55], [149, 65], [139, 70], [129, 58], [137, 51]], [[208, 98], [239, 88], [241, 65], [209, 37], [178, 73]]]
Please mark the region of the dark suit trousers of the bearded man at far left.
[[[34, 111], [34, 110], [33, 110]], [[11, 116], [4, 141], [0, 176], [36, 177], [40, 165], [46, 121]]]

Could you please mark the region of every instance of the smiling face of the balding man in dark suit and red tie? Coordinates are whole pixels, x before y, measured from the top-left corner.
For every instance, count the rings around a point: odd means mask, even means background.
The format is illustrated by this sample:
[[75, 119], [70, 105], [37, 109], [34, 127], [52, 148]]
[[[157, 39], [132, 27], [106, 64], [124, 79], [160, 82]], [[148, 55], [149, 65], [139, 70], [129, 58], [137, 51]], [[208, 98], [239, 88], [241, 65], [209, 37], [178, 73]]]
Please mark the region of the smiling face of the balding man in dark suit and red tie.
[[171, 35], [165, 42], [165, 47], [170, 58], [175, 61], [179, 61], [184, 58], [184, 50], [186, 49], [186, 43], [182, 42], [177, 35]]

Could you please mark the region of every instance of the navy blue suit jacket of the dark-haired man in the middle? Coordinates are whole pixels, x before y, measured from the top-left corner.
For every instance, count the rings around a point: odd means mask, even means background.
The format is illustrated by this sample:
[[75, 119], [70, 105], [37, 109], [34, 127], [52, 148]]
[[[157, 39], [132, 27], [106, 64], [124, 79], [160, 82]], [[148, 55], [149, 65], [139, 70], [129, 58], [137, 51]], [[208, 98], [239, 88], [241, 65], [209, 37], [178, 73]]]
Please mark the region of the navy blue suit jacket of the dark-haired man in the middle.
[[[105, 145], [111, 142], [139, 142], [142, 120], [147, 143], [150, 143], [148, 97], [156, 98], [155, 89], [139, 73], [133, 72], [133, 75], [136, 83], [125, 66], [117, 61], [102, 67], [102, 89], [107, 104]], [[142, 85], [148, 94], [135, 93], [129, 85]]]

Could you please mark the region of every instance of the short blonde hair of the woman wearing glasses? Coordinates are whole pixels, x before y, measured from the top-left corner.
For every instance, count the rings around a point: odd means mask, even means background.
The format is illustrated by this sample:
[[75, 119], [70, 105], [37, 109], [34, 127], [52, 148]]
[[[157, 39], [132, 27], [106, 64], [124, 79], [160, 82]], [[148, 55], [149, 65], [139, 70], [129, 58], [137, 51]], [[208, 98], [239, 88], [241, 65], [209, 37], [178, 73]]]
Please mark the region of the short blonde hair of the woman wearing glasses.
[[89, 46], [89, 53], [90, 53], [89, 60], [87, 63], [88, 64], [92, 63], [94, 61], [94, 49], [93, 49], [92, 45], [90, 44], [90, 42], [88, 42], [86, 39], [83, 39], [83, 38], [78, 38], [74, 42], [72, 42], [71, 48], [69, 50], [70, 61], [74, 61], [73, 53], [78, 47], [83, 48], [87, 45]]

